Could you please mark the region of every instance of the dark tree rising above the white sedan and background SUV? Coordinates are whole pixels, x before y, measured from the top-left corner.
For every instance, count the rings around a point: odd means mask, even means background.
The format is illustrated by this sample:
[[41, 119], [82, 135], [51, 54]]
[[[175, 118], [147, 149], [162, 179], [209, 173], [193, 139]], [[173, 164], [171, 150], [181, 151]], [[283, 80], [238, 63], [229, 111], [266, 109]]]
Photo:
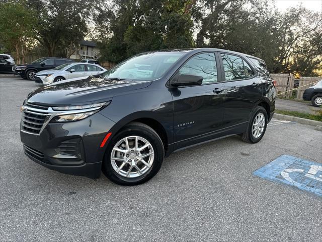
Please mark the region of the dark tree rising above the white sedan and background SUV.
[[47, 49], [49, 56], [69, 57], [73, 46], [87, 34], [86, 19], [95, 1], [87, 0], [27, 0], [37, 12], [35, 38]]

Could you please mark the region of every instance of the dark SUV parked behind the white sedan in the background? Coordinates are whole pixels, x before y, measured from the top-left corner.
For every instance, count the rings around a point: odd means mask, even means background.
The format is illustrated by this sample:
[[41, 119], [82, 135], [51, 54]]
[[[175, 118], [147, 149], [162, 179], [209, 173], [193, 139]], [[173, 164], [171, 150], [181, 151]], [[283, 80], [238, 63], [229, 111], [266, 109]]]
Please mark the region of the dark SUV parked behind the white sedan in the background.
[[35, 81], [35, 75], [37, 72], [54, 69], [55, 67], [71, 62], [72, 59], [68, 58], [44, 57], [36, 59], [36, 61], [31, 64], [21, 64], [14, 66], [12, 68], [12, 71], [14, 72], [14, 74], [19, 75], [22, 78], [26, 78], [30, 81]]

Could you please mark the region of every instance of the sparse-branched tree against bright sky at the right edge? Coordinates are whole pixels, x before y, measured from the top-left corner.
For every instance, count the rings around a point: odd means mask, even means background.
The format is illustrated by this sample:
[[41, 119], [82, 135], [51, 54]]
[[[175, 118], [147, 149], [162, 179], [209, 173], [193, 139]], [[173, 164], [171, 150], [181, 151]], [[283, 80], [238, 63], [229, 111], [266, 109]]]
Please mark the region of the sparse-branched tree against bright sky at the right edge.
[[278, 15], [276, 28], [278, 55], [273, 71], [313, 75], [322, 59], [322, 16], [302, 6], [290, 8]]

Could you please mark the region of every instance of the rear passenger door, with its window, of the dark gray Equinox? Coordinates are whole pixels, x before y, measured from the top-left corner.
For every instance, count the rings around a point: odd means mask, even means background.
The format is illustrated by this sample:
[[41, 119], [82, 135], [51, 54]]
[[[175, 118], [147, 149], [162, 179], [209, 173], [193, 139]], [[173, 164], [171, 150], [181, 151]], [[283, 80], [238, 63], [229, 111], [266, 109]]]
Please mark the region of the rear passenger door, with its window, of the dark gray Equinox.
[[245, 58], [221, 52], [220, 64], [224, 77], [224, 127], [244, 131], [253, 108], [262, 98], [261, 79]]

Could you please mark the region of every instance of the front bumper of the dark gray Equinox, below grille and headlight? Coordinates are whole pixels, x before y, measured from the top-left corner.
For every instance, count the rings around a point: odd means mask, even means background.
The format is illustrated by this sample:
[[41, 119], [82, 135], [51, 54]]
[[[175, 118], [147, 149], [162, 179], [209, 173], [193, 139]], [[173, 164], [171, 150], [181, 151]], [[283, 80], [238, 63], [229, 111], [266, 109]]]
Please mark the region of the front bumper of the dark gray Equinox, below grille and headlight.
[[76, 122], [49, 123], [40, 134], [28, 133], [21, 125], [20, 137], [25, 154], [38, 164], [97, 178], [107, 144], [103, 148], [100, 145], [114, 124], [98, 112]]

